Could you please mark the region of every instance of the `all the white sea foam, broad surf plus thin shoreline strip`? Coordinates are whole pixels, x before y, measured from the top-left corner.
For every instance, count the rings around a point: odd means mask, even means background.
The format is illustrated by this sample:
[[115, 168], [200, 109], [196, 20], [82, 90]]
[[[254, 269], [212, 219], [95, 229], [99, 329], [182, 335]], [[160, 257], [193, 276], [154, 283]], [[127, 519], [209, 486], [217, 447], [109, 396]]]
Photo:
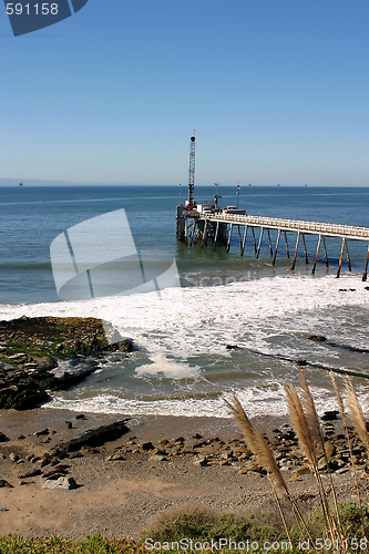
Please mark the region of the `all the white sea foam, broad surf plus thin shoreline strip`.
[[[201, 356], [205, 359], [215, 356], [224, 359], [225, 366], [229, 363], [230, 353], [225, 349], [227, 343], [237, 343], [264, 353], [280, 351], [286, 355], [294, 337], [321, 329], [329, 337], [335, 338], [335, 334], [340, 332], [346, 338], [345, 329], [350, 324], [352, 335], [348, 338], [349, 343], [368, 348], [366, 324], [363, 321], [360, 327], [355, 321], [356, 307], [362, 310], [368, 306], [369, 293], [358, 275], [344, 275], [338, 280], [334, 276], [317, 278], [289, 274], [217, 287], [167, 288], [161, 291], [161, 298], [155, 291], [85, 301], [1, 306], [0, 318], [13, 319], [25, 315], [98, 317], [109, 320], [123, 336], [132, 337], [139, 350], [146, 352], [152, 361], [143, 363], [141, 359], [135, 368], [136, 377], [164, 376], [176, 380], [196, 379], [199, 373], [203, 375], [204, 368], [196, 362], [194, 367], [193, 360]], [[348, 321], [349, 317], [351, 321]], [[310, 341], [304, 343], [306, 346], [299, 347], [301, 357], [305, 356], [304, 348], [306, 352], [311, 349]], [[322, 348], [316, 345], [316, 357]], [[329, 356], [332, 366], [338, 363], [337, 351], [331, 351]], [[362, 387], [360, 393], [361, 401], [366, 403], [368, 389]], [[264, 388], [240, 384], [237, 394], [250, 407], [253, 417], [287, 413], [278, 382]], [[122, 397], [124, 391], [120, 391], [120, 396], [95, 391], [92, 398], [83, 399], [63, 399], [60, 394], [48, 406], [127, 414], [227, 416], [221, 397], [151, 402]], [[329, 391], [319, 388], [316, 397], [318, 410], [335, 408]]]

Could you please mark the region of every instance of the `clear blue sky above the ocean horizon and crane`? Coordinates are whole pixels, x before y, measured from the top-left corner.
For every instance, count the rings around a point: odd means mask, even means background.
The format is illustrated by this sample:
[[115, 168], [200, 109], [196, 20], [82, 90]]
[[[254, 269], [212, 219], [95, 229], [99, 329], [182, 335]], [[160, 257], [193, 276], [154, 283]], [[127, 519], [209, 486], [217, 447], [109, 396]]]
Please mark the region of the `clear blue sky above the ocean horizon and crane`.
[[369, 185], [368, 0], [89, 0], [13, 38], [0, 178]]

